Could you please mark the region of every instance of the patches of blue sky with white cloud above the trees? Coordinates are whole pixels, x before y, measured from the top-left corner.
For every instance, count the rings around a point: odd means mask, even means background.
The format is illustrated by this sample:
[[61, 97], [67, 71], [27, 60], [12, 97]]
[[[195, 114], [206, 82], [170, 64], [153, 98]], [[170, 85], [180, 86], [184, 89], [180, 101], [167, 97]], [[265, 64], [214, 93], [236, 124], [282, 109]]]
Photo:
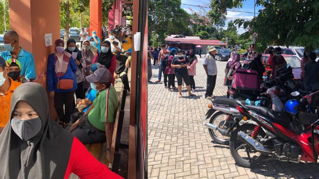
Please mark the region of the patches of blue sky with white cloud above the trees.
[[[184, 4], [190, 4], [190, 5], [203, 5], [203, 4], [207, 4], [210, 3], [210, 0], [182, 0], [182, 5], [181, 7], [187, 11], [188, 13], [190, 13], [189, 7], [191, 9], [193, 9], [194, 11], [198, 10], [198, 7], [194, 7], [194, 6], [188, 6], [188, 5], [184, 5]], [[261, 6], [256, 6], [256, 16], [258, 15], [258, 10], [260, 10], [262, 7]], [[208, 9], [207, 9], [208, 10]], [[254, 12], [254, 0], [246, 0], [243, 2], [243, 8], [241, 9], [231, 9], [234, 11], [244, 11], [244, 12]], [[254, 17], [254, 14], [252, 13], [243, 13], [243, 12], [232, 12], [232, 11], [227, 11], [227, 15], [226, 15], [226, 26], [228, 21], [233, 20], [234, 18], [244, 18], [244, 19], [252, 19]], [[224, 27], [224, 29], [227, 29], [227, 27]], [[239, 28], [237, 26], [237, 32], [238, 34], [242, 34], [244, 32], [246, 32], [245, 29], [243, 28]]]

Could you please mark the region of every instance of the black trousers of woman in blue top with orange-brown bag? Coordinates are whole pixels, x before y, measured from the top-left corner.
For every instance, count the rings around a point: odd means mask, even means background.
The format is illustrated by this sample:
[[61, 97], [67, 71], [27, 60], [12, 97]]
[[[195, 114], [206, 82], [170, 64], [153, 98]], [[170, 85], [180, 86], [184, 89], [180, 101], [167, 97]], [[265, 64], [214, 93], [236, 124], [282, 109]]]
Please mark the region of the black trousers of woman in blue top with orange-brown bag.
[[[73, 103], [74, 103], [74, 91], [70, 92], [55, 92], [54, 95], [54, 108], [56, 108], [56, 113], [60, 119], [64, 123], [70, 123], [70, 116], [73, 111]], [[64, 105], [64, 110], [63, 110]]]

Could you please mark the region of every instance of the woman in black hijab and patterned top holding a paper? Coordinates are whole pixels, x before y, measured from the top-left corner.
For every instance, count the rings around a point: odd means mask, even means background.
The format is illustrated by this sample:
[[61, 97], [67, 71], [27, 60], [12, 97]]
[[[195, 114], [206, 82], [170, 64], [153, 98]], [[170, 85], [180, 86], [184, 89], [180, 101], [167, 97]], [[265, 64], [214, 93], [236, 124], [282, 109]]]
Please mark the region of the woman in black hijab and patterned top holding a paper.
[[[77, 73], [75, 74], [75, 77], [77, 79], [77, 84], [78, 88], [75, 90], [75, 95], [79, 99], [84, 98], [84, 81], [85, 81], [85, 76], [84, 72], [82, 69], [86, 68], [86, 63], [84, 61], [84, 58], [82, 58], [82, 53], [76, 46], [76, 42], [74, 39], [69, 39], [68, 42], [66, 43], [67, 48], [65, 49], [66, 52], [72, 55], [72, 53], [77, 53], [76, 58], [74, 59], [75, 63], [78, 66]], [[74, 57], [72, 55], [72, 57]]]

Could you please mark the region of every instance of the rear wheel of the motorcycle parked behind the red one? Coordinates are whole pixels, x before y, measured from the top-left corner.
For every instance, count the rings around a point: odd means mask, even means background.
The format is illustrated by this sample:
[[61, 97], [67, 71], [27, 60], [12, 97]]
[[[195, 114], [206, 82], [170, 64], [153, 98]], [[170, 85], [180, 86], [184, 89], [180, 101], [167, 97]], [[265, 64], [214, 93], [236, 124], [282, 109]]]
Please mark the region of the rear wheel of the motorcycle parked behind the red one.
[[[227, 117], [227, 114], [225, 114], [224, 112], [218, 111], [211, 117], [211, 120], [209, 120], [209, 123], [211, 123], [212, 125], [217, 125], [218, 127], [224, 127], [224, 126], [221, 126], [221, 124], [223, 123], [223, 121], [225, 121], [224, 119], [226, 117]], [[232, 121], [234, 121], [234, 118], [232, 118]], [[227, 128], [224, 128], [224, 129], [228, 130]], [[211, 138], [215, 142], [219, 144], [224, 144], [224, 145], [229, 144], [230, 138], [227, 136], [223, 136], [218, 130], [208, 129], [208, 132], [211, 135]]]

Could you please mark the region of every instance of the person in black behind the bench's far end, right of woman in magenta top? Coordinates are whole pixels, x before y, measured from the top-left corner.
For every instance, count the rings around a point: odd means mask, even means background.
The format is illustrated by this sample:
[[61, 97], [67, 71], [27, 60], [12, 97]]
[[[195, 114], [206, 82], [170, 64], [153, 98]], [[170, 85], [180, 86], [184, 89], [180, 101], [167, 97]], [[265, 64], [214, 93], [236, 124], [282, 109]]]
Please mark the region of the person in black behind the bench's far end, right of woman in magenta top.
[[126, 61], [130, 56], [121, 55], [120, 51], [118, 50], [115, 50], [113, 54], [116, 56], [117, 61], [114, 78], [121, 78], [122, 83], [124, 84], [124, 89], [127, 89], [130, 92], [129, 78], [127, 76], [128, 69], [125, 66]]

